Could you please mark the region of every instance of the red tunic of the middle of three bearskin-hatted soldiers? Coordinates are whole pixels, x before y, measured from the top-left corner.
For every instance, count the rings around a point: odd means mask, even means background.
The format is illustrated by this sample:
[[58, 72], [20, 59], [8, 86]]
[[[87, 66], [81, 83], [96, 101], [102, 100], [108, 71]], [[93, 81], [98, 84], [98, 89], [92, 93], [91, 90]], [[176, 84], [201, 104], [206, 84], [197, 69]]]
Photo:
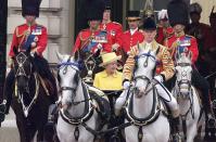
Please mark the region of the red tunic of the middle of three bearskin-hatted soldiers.
[[[76, 41], [75, 41], [75, 46], [73, 48], [73, 53], [76, 52], [77, 50], [82, 50], [85, 48], [87, 48], [91, 41], [94, 41], [96, 44], [91, 48], [91, 52], [94, 52], [94, 50], [97, 48], [99, 48], [99, 46], [102, 46], [102, 51], [104, 52], [111, 52], [112, 51], [112, 47], [110, 44], [111, 42], [111, 37], [105, 34], [105, 37], [100, 36], [101, 33], [103, 33], [101, 29], [97, 30], [97, 31], [91, 31], [89, 28], [84, 29], [81, 31], [79, 31]], [[97, 37], [100, 37], [100, 42], [97, 41]], [[102, 41], [102, 38], [104, 39]]]

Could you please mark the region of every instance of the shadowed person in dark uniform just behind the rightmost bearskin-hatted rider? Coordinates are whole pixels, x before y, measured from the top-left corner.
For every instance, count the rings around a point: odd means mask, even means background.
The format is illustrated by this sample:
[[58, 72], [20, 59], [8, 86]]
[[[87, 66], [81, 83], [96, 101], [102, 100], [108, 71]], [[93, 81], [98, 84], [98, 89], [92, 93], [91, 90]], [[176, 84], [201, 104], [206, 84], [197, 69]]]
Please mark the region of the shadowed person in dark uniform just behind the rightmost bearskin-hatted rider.
[[209, 26], [200, 23], [202, 8], [199, 3], [190, 5], [191, 24], [187, 25], [186, 33], [196, 38], [199, 48], [199, 57], [195, 63], [201, 75], [206, 76], [209, 74], [209, 65], [207, 65], [206, 52], [208, 48]]

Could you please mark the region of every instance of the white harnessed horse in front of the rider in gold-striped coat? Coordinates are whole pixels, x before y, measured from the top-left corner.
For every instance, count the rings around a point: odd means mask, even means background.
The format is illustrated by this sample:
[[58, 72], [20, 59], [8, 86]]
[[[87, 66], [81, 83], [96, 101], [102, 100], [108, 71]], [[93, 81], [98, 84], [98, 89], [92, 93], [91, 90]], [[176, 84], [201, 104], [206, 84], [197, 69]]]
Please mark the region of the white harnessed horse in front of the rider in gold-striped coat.
[[[156, 51], [140, 51], [134, 74], [134, 87], [125, 106], [127, 142], [168, 142], [169, 122], [152, 81], [156, 66]], [[127, 92], [126, 92], [127, 93]]]

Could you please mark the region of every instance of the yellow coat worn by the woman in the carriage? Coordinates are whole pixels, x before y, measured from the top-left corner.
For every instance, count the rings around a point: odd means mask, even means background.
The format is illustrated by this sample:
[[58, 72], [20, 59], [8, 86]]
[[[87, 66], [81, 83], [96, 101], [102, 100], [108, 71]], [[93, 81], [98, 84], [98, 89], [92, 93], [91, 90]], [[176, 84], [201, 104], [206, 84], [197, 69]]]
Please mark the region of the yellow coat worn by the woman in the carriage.
[[123, 74], [116, 72], [109, 76], [105, 70], [96, 74], [93, 86], [100, 90], [122, 90]]

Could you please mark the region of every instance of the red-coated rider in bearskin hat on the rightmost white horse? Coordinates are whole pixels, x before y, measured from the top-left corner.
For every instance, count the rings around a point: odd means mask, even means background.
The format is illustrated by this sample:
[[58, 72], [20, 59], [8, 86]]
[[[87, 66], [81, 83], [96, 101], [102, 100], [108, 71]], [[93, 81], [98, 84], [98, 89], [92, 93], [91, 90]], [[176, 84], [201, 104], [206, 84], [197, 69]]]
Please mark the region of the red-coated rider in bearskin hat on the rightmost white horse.
[[169, 17], [169, 23], [174, 27], [175, 31], [175, 35], [168, 38], [167, 47], [169, 48], [173, 57], [175, 56], [174, 54], [176, 50], [178, 50], [179, 53], [187, 51], [192, 52], [192, 63], [193, 63], [192, 83], [195, 88], [201, 90], [203, 95], [204, 111], [207, 114], [206, 115], [207, 118], [213, 122], [214, 119], [212, 116], [212, 108], [209, 102], [211, 99], [208, 93], [209, 86], [208, 82], [205, 80], [205, 78], [199, 74], [194, 65], [199, 55], [196, 39], [192, 36], [186, 35], [183, 31], [185, 27], [189, 22], [187, 4], [183, 1], [174, 0], [169, 2], [167, 12]]

